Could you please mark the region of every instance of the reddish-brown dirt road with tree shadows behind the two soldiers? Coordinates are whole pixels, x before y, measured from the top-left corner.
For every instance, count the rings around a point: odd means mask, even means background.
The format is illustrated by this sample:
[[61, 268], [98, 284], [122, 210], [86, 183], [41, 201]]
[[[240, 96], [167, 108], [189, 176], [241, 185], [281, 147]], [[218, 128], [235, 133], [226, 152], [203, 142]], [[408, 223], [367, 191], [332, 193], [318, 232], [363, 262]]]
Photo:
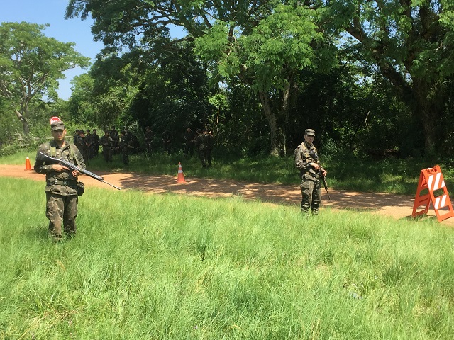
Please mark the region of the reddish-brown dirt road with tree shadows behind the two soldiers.
[[[185, 177], [187, 183], [177, 183], [175, 176], [151, 176], [137, 173], [114, 173], [103, 174], [109, 183], [123, 189], [135, 188], [149, 193], [179, 193], [191, 196], [206, 197], [229, 197], [243, 196], [245, 199], [260, 199], [262, 202], [294, 205], [299, 208], [301, 191], [298, 186], [283, 186], [277, 184], [248, 183], [240, 181], [220, 181], [214, 179], [199, 179]], [[26, 171], [24, 166], [1, 165], [0, 176], [18, 177], [43, 181], [44, 176], [35, 171]], [[87, 188], [100, 186], [111, 188], [104, 183], [96, 181], [88, 176], [83, 176], [82, 181]], [[416, 191], [416, 188], [415, 188]], [[409, 217], [413, 210], [414, 196], [391, 195], [384, 193], [358, 193], [352, 191], [329, 190], [331, 200], [328, 200], [326, 192], [322, 193], [322, 208], [355, 209], [370, 211], [380, 215], [388, 215], [397, 219]], [[430, 208], [428, 217], [436, 218], [435, 211]], [[441, 222], [445, 225], [454, 225], [454, 218], [448, 218]]]

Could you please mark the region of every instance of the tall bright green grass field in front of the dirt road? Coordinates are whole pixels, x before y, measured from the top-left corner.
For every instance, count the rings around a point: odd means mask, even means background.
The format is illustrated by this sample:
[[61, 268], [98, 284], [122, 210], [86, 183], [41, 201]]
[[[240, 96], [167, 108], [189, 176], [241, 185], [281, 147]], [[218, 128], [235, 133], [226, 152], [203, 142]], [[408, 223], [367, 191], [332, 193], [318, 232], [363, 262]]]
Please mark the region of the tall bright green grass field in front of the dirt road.
[[0, 185], [0, 339], [454, 336], [436, 222], [89, 188], [52, 244], [44, 183]]

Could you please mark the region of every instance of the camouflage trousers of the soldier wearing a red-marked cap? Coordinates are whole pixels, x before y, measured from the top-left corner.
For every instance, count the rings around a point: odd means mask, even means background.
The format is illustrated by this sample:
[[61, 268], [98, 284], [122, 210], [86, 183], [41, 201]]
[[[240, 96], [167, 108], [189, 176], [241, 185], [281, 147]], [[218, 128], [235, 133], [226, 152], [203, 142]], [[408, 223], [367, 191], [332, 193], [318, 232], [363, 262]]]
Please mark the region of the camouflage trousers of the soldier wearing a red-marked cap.
[[45, 216], [49, 220], [49, 234], [55, 241], [62, 239], [62, 227], [65, 232], [76, 234], [77, 195], [62, 196], [55, 193], [46, 193]]

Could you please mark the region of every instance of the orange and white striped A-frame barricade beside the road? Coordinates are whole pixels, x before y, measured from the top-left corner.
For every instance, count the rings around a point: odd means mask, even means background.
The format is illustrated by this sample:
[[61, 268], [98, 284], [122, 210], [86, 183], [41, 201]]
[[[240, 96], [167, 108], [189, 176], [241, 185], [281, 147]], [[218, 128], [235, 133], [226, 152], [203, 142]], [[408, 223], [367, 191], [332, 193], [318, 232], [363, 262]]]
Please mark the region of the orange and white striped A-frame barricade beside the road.
[[[421, 194], [421, 191], [423, 193]], [[412, 217], [427, 214], [429, 205], [433, 206], [438, 222], [454, 217], [453, 205], [448, 195], [448, 189], [443, 179], [440, 166], [422, 169], [419, 176], [418, 189], [414, 198]], [[425, 207], [416, 212], [419, 207]]]

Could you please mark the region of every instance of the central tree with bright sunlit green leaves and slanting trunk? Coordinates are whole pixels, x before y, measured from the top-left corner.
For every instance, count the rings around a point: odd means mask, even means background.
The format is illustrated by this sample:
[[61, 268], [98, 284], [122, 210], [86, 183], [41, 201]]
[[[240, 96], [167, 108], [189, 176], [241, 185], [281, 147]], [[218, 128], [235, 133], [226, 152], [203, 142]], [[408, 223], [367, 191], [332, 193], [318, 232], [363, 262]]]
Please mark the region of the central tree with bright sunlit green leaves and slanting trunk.
[[278, 4], [250, 30], [240, 30], [242, 25], [217, 21], [197, 38], [198, 52], [216, 61], [221, 77], [239, 77], [258, 94], [270, 127], [270, 151], [285, 154], [289, 99], [299, 70], [329, 69], [336, 54], [323, 46], [316, 12], [306, 6]]

